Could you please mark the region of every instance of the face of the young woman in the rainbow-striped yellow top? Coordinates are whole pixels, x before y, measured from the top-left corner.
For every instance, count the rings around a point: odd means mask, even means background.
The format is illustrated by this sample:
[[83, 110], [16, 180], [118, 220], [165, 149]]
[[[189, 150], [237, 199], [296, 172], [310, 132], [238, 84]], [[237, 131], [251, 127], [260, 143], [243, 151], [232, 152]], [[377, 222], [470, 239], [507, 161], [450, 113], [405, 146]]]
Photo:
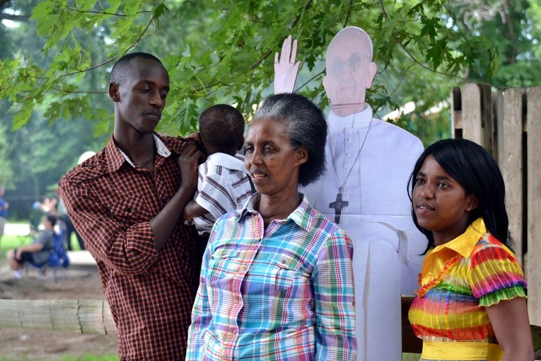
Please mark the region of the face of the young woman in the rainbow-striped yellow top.
[[419, 226], [432, 231], [436, 246], [463, 234], [470, 225], [470, 212], [477, 207], [475, 196], [466, 195], [431, 155], [416, 175], [412, 201]]

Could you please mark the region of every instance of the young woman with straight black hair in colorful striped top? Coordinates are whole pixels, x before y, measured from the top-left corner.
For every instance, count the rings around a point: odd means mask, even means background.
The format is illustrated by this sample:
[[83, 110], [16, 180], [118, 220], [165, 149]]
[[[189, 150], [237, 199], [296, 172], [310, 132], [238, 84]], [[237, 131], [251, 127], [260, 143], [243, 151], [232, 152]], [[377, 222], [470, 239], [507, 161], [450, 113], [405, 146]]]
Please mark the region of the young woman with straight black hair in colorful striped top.
[[466, 139], [426, 148], [410, 179], [412, 215], [429, 239], [409, 309], [421, 360], [534, 360], [526, 282], [506, 246], [505, 185]]

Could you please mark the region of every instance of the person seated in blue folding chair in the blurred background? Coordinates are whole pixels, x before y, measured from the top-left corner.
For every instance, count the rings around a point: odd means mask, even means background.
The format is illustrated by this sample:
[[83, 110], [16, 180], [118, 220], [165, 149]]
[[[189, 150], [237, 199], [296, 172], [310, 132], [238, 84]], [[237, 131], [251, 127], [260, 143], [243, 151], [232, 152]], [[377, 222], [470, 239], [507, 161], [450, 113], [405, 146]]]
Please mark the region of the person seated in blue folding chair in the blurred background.
[[10, 249], [6, 255], [9, 266], [14, 271], [13, 277], [21, 279], [23, 277], [23, 265], [25, 262], [31, 262], [36, 265], [47, 262], [53, 250], [54, 243], [54, 224], [57, 223], [57, 217], [49, 214], [43, 218], [45, 229], [28, 246], [22, 246], [17, 249]]

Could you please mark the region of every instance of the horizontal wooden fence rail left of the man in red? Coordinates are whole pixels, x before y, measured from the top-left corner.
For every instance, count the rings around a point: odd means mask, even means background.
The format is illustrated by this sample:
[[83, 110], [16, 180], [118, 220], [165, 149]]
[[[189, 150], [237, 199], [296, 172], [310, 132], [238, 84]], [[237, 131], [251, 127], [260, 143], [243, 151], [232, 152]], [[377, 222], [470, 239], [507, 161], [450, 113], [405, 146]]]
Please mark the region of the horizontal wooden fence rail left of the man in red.
[[106, 301], [88, 299], [0, 299], [0, 328], [116, 334]]

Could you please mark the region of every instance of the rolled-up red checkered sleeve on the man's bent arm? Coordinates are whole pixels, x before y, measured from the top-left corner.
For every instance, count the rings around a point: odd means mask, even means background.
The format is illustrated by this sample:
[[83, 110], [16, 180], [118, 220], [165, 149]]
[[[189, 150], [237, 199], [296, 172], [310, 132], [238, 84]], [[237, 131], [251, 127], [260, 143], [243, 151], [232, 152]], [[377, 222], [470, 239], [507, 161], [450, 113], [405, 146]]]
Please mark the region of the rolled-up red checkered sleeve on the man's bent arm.
[[83, 183], [69, 178], [60, 181], [60, 195], [88, 251], [121, 274], [139, 274], [148, 270], [158, 258], [149, 222], [128, 227], [116, 221]]

